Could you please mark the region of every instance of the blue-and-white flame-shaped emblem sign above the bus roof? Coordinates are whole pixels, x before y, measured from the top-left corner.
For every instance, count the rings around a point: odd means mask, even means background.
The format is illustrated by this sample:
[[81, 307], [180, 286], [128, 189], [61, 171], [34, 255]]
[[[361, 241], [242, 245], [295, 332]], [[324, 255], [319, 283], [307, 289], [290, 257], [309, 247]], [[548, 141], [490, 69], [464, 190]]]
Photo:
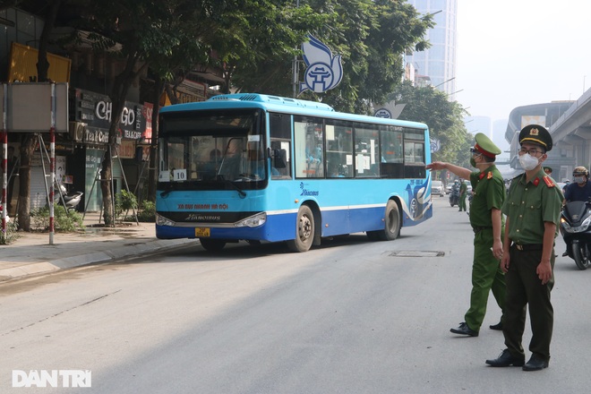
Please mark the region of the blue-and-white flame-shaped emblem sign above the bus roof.
[[308, 89], [322, 93], [335, 88], [343, 79], [343, 64], [340, 55], [332, 56], [330, 47], [311, 34], [308, 37], [310, 41], [302, 44], [307, 68], [305, 82], [300, 83], [300, 93]]

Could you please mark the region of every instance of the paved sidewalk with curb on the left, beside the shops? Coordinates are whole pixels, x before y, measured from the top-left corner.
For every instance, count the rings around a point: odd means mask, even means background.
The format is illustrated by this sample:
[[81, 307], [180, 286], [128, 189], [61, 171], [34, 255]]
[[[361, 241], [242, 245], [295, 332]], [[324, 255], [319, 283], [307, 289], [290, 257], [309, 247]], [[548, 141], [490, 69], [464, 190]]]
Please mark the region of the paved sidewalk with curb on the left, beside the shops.
[[[102, 223], [102, 222], [101, 222]], [[0, 245], [0, 282], [82, 265], [115, 261], [155, 253], [195, 239], [158, 239], [154, 223], [126, 222], [101, 227], [98, 213], [87, 213], [85, 230], [78, 233], [19, 233], [19, 238]]]

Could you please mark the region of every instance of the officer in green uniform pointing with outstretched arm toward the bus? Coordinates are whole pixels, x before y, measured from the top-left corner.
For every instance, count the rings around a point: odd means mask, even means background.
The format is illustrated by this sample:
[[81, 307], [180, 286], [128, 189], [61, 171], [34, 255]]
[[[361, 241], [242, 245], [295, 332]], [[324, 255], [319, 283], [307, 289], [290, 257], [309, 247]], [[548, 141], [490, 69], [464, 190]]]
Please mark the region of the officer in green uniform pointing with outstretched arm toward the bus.
[[[501, 311], [504, 311], [505, 304], [505, 280], [499, 260], [503, 250], [501, 208], [507, 193], [501, 173], [494, 165], [496, 155], [501, 150], [483, 133], [477, 133], [475, 141], [470, 164], [478, 168], [477, 171], [472, 172], [470, 169], [439, 161], [427, 165], [428, 169], [447, 169], [457, 176], [470, 179], [472, 184], [473, 197], [469, 216], [475, 235], [470, 307], [464, 316], [465, 321], [458, 328], [450, 330], [470, 337], [478, 336], [491, 290]], [[501, 330], [502, 324], [501, 318], [501, 322], [490, 328]]]

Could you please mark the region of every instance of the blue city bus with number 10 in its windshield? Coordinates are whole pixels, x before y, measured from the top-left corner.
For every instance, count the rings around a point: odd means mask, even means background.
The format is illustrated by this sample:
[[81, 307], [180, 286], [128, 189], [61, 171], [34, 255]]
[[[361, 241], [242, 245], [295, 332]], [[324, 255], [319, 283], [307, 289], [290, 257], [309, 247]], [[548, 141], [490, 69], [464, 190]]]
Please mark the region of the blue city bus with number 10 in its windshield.
[[164, 107], [156, 236], [306, 252], [323, 237], [393, 240], [433, 216], [425, 124], [242, 93]]

